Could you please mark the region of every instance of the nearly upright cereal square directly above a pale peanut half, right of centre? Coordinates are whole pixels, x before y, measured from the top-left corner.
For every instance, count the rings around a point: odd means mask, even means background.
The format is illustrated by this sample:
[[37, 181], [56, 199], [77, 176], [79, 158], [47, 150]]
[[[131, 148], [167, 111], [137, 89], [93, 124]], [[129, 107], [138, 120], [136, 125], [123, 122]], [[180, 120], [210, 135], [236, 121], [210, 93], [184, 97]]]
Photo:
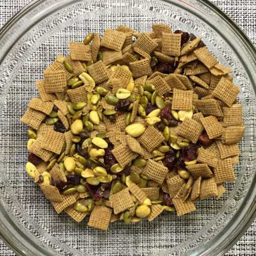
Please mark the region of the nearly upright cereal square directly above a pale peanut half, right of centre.
[[174, 88], [173, 110], [190, 111], [193, 105], [193, 91], [184, 91]]

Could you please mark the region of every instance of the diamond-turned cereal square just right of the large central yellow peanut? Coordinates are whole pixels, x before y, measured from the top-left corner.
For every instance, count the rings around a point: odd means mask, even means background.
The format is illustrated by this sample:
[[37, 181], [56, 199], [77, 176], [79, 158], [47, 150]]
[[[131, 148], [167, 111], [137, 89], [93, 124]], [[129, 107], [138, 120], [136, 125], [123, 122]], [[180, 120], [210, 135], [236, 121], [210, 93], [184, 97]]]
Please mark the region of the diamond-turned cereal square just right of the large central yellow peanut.
[[165, 139], [152, 125], [137, 139], [148, 151], [152, 152], [156, 146], [161, 144]]

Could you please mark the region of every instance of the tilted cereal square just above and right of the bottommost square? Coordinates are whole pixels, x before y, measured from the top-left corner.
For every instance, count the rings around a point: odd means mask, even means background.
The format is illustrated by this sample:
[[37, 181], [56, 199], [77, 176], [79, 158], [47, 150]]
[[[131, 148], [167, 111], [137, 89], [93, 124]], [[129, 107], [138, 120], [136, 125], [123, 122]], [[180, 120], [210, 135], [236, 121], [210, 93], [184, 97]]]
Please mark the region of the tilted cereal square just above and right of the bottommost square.
[[113, 204], [114, 214], [119, 214], [119, 212], [134, 206], [134, 202], [129, 193], [129, 188], [125, 188], [110, 196], [110, 201]]

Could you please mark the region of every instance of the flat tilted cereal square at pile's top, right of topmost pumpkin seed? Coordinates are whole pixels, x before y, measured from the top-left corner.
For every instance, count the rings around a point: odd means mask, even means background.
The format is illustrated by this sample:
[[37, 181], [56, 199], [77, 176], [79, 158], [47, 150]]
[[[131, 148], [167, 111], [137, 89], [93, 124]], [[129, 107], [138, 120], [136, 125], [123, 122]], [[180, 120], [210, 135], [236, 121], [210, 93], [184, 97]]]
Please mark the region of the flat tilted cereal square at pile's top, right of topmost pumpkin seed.
[[126, 35], [123, 32], [107, 28], [101, 39], [100, 45], [115, 51], [122, 50]]

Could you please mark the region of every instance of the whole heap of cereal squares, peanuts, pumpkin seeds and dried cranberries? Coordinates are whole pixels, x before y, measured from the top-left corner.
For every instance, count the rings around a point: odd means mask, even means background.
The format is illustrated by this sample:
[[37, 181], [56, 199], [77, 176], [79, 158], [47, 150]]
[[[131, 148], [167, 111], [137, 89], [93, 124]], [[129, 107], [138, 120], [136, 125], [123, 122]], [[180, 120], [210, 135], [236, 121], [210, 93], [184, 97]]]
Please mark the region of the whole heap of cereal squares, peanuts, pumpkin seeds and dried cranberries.
[[152, 28], [69, 42], [70, 55], [35, 82], [40, 98], [20, 119], [30, 126], [26, 170], [58, 214], [90, 215], [103, 230], [163, 210], [181, 216], [236, 180], [245, 127], [232, 70], [202, 37]]

